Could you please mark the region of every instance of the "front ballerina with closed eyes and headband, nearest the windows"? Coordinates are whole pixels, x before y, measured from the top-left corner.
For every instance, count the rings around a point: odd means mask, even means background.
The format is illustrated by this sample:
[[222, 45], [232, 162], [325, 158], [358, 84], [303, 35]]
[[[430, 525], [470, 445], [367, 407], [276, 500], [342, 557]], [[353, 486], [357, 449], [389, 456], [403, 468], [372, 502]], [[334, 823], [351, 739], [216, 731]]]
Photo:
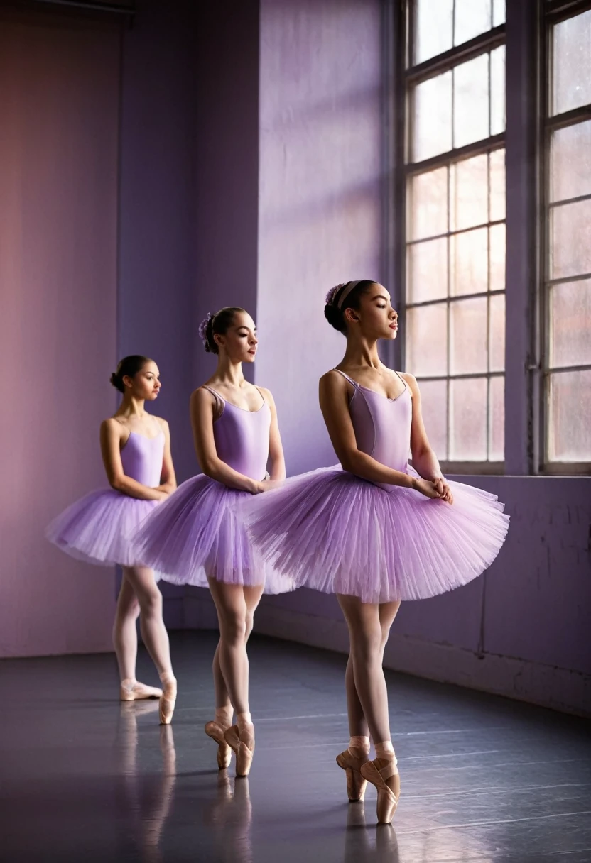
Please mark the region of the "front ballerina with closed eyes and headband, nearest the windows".
[[338, 595], [351, 644], [352, 736], [337, 763], [346, 771], [349, 798], [361, 799], [369, 780], [378, 788], [378, 821], [390, 822], [400, 793], [382, 669], [391, 624], [401, 600], [440, 594], [480, 575], [503, 544], [508, 518], [493, 494], [444, 480], [416, 380], [380, 362], [378, 339], [397, 335], [385, 288], [370, 280], [339, 285], [327, 296], [325, 316], [346, 336], [343, 361], [320, 386], [344, 469], [288, 480], [250, 501], [246, 517], [278, 571], [296, 586]]

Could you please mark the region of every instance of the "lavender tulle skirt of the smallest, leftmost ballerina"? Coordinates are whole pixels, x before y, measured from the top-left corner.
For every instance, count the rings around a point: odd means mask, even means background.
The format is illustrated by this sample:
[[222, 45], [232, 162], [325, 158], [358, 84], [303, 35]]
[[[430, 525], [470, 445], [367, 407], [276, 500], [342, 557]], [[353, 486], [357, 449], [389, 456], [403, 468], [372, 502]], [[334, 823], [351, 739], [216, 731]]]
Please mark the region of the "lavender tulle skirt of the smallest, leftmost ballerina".
[[104, 566], [147, 565], [131, 549], [130, 540], [159, 501], [142, 501], [103, 488], [75, 501], [48, 526], [50, 542], [71, 557]]

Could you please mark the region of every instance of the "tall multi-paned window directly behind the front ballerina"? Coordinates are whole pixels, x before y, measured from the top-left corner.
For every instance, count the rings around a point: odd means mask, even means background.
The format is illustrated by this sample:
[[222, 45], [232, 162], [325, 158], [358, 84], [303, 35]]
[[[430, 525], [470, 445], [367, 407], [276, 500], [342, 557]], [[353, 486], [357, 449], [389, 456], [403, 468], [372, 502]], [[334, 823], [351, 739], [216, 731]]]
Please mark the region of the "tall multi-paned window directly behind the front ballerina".
[[410, 0], [407, 13], [404, 368], [447, 469], [500, 471], [505, 3]]

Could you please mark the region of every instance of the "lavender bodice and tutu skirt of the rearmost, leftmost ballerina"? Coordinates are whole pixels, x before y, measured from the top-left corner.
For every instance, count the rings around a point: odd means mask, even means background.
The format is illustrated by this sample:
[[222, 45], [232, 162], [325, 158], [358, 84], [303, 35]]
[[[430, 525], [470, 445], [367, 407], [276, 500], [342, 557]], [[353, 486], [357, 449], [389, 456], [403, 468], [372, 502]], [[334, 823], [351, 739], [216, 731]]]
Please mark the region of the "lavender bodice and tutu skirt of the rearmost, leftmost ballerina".
[[[149, 488], [160, 483], [164, 454], [163, 431], [155, 438], [130, 432], [121, 450], [126, 476]], [[146, 565], [131, 549], [130, 539], [159, 501], [143, 501], [112, 488], [86, 494], [58, 515], [46, 536], [62, 551], [91, 564]]]

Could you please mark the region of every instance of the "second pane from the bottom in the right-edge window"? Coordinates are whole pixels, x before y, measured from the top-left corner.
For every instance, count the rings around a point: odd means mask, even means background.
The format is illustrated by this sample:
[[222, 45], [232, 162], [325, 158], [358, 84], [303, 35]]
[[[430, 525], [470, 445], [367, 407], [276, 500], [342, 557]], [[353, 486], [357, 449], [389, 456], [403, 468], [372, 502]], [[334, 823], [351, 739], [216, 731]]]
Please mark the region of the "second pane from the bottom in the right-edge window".
[[591, 280], [554, 285], [550, 287], [550, 366], [587, 363], [591, 365]]

